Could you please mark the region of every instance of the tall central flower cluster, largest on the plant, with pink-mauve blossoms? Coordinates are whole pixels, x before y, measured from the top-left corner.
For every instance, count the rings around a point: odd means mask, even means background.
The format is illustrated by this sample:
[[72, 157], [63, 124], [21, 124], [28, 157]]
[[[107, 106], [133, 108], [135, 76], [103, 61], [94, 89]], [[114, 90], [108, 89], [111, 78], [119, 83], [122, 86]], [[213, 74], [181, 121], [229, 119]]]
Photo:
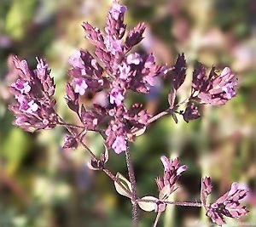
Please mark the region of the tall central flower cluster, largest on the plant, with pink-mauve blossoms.
[[[108, 120], [107, 145], [116, 153], [127, 150], [132, 132], [147, 125], [149, 115], [141, 104], [125, 106], [128, 90], [148, 93], [154, 77], [165, 74], [166, 65], [156, 65], [153, 54], [129, 53], [143, 39], [145, 25], [139, 24], [126, 32], [124, 24], [126, 7], [114, 2], [108, 13], [105, 33], [84, 22], [86, 37], [95, 45], [93, 57], [88, 51], [76, 51], [69, 59], [72, 81], [67, 83], [67, 104], [83, 119], [84, 128], [96, 130]], [[126, 36], [125, 36], [126, 34]], [[94, 104], [86, 110], [79, 106], [79, 96], [86, 92], [107, 91], [108, 105]]]

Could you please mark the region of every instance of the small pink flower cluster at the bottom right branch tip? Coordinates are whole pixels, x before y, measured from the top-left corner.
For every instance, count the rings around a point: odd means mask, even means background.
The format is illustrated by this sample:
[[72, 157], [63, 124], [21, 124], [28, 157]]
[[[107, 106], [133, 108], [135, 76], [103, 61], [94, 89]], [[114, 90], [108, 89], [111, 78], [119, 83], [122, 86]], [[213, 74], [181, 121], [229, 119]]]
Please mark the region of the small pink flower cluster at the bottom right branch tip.
[[207, 177], [201, 180], [201, 202], [207, 210], [207, 216], [218, 225], [225, 224], [224, 216], [230, 218], [241, 218], [248, 213], [246, 207], [240, 204], [248, 194], [248, 189], [234, 182], [231, 189], [217, 201], [208, 204], [207, 197], [212, 193], [212, 180]]

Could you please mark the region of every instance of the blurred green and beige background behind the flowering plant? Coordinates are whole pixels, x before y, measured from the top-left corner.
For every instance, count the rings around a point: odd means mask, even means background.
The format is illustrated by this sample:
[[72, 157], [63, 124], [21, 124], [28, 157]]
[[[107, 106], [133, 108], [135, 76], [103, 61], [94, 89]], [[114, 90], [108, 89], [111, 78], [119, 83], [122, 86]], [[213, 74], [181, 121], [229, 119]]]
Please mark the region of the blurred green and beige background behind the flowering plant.
[[[128, 27], [146, 21], [137, 51], [153, 52], [159, 63], [173, 65], [184, 52], [191, 76], [195, 61], [223, 68], [230, 65], [239, 78], [238, 95], [224, 106], [202, 109], [203, 117], [189, 124], [171, 117], [154, 123], [132, 145], [140, 196], [158, 194], [154, 178], [162, 174], [160, 156], [180, 156], [189, 171], [180, 179], [173, 199], [199, 201], [201, 176], [214, 183], [212, 199], [230, 189], [233, 181], [247, 184], [251, 213], [227, 226], [256, 226], [256, 1], [254, 0], [130, 0]], [[7, 106], [14, 80], [10, 54], [32, 65], [48, 60], [55, 77], [58, 111], [72, 122], [63, 96], [67, 60], [75, 49], [92, 49], [84, 38], [82, 21], [102, 28], [110, 0], [0, 1], [0, 226], [1, 227], [118, 227], [131, 226], [131, 203], [119, 196], [106, 175], [86, 166], [83, 148], [62, 150], [65, 130], [26, 133], [12, 126]], [[142, 101], [152, 114], [165, 110], [170, 85], [160, 82]], [[184, 97], [188, 82], [179, 93]], [[85, 97], [91, 102], [94, 96]], [[88, 135], [88, 145], [102, 152], [102, 140]], [[108, 167], [126, 175], [125, 157], [110, 154]], [[141, 212], [141, 227], [152, 226], [155, 213]], [[159, 226], [209, 226], [200, 208], [169, 207]], [[212, 226], [212, 225], [211, 225]]]

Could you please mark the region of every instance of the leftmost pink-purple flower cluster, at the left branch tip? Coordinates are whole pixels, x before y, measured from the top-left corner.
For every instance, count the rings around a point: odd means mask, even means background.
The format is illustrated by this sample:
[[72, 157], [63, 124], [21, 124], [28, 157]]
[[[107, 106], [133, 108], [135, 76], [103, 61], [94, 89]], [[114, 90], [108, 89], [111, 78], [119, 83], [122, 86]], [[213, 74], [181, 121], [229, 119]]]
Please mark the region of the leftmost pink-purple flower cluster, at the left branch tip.
[[33, 132], [37, 129], [54, 128], [56, 125], [55, 113], [55, 85], [49, 76], [48, 65], [44, 60], [38, 60], [35, 70], [31, 70], [26, 60], [13, 58], [18, 78], [10, 86], [10, 91], [15, 94], [15, 103], [9, 106], [16, 119], [15, 125]]

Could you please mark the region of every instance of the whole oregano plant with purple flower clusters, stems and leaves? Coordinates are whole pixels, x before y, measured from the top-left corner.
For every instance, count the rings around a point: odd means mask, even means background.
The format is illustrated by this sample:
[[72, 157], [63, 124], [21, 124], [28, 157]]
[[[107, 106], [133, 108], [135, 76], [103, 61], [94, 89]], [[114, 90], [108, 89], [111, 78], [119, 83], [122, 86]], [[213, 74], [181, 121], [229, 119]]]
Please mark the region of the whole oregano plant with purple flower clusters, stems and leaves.
[[[14, 124], [28, 132], [51, 129], [57, 126], [67, 128], [63, 148], [76, 149], [79, 144], [90, 154], [88, 167], [102, 171], [113, 180], [116, 191], [131, 200], [133, 225], [139, 224], [138, 209], [154, 211], [156, 218], [152, 226], [157, 226], [160, 214], [167, 206], [202, 207], [212, 222], [219, 226], [225, 224], [225, 218], [241, 218], [248, 213], [241, 205], [248, 189], [233, 183], [230, 190], [216, 201], [208, 201], [212, 193], [210, 177], [201, 179], [201, 201], [172, 201], [170, 196], [178, 190], [177, 180], [188, 169], [178, 157], [169, 159], [161, 156], [163, 175], [156, 178], [158, 196], [139, 197], [136, 174], [131, 161], [130, 145], [137, 136], [147, 133], [153, 122], [163, 116], [171, 116], [177, 122], [177, 115], [190, 122], [201, 116], [200, 105], [224, 105], [236, 96], [237, 79], [229, 67], [218, 72], [213, 66], [208, 70], [201, 63], [195, 66], [189, 97], [179, 100], [177, 90], [186, 78], [186, 59], [179, 54], [175, 65], [157, 65], [154, 54], [140, 54], [132, 49], [143, 40], [146, 29], [144, 23], [127, 31], [124, 16], [127, 8], [119, 2], [113, 2], [108, 12], [104, 31], [83, 23], [86, 38], [95, 46], [93, 53], [80, 49], [70, 58], [70, 76], [66, 86], [67, 106], [78, 116], [79, 123], [67, 122], [56, 111], [55, 82], [45, 60], [38, 59], [36, 69], [32, 69], [26, 60], [13, 57], [19, 78], [10, 85], [9, 90], [15, 95], [15, 102], [9, 110], [15, 115]], [[207, 72], [209, 71], [209, 72]], [[169, 106], [165, 111], [151, 116], [140, 103], [128, 106], [125, 102], [127, 92], [146, 94], [156, 84], [156, 79], [168, 77], [170, 92], [166, 94]], [[81, 102], [87, 92], [104, 91], [106, 103], [93, 103], [87, 106]], [[185, 108], [183, 108], [185, 106]], [[178, 122], [177, 122], [178, 123]], [[86, 133], [99, 133], [104, 139], [105, 150], [96, 156], [85, 143]], [[120, 173], [108, 169], [108, 153], [125, 156], [128, 179]]]

